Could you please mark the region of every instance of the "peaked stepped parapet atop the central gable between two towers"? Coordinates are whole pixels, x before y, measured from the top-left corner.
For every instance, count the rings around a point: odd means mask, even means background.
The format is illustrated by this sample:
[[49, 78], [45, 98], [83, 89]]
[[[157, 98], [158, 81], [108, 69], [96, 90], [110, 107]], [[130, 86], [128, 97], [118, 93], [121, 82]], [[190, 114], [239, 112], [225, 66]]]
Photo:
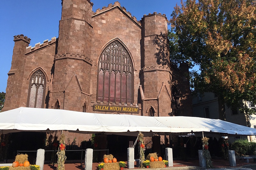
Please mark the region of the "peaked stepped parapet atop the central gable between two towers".
[[134, 22], [136, 22], [138, 25], [141, 25], [140, 21], [137, 21], [135, 16], [132, 16], [132, 14], [129, 11], [126, 11], [125, 7], [121, 7], [121, 4], [117, 1], [114, 4], [108, 4], [108, 6], [103, 6], [102, 9], [97, 9], [96, 12], [92, 12], [93, 13], [93, 17], [97, 16], [103, 12], [109, 11], [115, 7], [119, 7], [123, 12], [126, 13], [126, 15], [128, 15]]

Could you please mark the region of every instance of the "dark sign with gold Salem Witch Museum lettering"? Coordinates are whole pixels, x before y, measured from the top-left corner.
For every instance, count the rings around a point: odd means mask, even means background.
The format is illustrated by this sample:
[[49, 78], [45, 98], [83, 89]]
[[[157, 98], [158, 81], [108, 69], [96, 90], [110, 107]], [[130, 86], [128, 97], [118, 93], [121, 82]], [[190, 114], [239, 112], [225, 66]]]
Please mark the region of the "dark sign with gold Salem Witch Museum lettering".
[[123, 112], [123, 113], [139, 113], [138, 107], [110, 106], [110, 105], [93, 105], [93, 111], [100, 112]]

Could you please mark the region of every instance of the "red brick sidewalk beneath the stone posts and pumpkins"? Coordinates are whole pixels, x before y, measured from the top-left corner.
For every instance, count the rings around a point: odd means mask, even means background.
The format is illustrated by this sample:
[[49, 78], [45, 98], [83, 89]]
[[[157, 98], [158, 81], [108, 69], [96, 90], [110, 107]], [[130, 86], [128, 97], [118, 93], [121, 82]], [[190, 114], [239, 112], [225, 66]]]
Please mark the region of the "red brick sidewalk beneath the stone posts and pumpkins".
[[[212, 160], [214, 168], [238, 168], [238, 167], [245, 167], [245, 168], [252, 168], [256, 170], [256, 163], [253, 163], [253, 159], [249, 160], [249, 163], [244, 163], [243, 160], [236, 160], [236, 167], [230, 167], [228, 160]], [[99, 163], [93, 163], [93, 169], [92, 170], [98, 170]], [[56, 170], [57, 165], [52, 167], [52, 165], [45, 164], [44, 170]], [[73, 164], [65, 164], [66, 170], [84, 170], [84, 164], [82, 164], [82, 167], [80, 166], [80, 163], [73, 163]], [[127, 166], [124, 169], [128, 169]], [[134, 168], [136, 170], [140, 170], [139, 168]], [[205, 169], [199, 167], [199, 161], [198, 160], [188, 160], [188, 161], [182, 161], [182, 160], [174, 160], [173, 161], [173, 167], [166, 167], [162, 168], [164, 170], [179, 170], [179, 169]], [[153, 170], [153, 169], [152, 169]]]

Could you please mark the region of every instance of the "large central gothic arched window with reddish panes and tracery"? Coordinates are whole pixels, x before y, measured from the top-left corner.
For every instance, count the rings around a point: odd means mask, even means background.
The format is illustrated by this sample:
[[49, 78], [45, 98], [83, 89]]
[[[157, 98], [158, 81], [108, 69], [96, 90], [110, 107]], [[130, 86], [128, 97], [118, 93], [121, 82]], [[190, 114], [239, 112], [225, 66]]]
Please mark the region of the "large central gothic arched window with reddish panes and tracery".
[[97, 100], [101, 102], [133, 102], [131, 57], [118, 41], [109, 44], [100, 56]]

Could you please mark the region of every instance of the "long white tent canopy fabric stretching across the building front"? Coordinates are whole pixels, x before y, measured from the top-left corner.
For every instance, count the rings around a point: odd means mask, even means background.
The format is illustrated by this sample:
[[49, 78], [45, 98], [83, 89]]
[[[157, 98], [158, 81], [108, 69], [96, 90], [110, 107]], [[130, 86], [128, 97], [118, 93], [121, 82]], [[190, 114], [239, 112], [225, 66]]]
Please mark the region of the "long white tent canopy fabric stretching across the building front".
[[76, 133], [134, 135], [211, 132], [256, 135], [256, 129], [223, 120], [199, 117], [149, 117], [127, 114], [99, 114], [57, 109], [20, 107], [0, 113], [3, 133], [18, 131], [68, 130]]

